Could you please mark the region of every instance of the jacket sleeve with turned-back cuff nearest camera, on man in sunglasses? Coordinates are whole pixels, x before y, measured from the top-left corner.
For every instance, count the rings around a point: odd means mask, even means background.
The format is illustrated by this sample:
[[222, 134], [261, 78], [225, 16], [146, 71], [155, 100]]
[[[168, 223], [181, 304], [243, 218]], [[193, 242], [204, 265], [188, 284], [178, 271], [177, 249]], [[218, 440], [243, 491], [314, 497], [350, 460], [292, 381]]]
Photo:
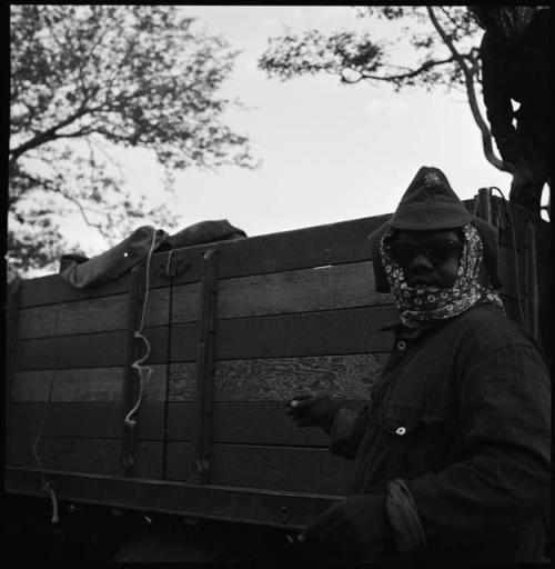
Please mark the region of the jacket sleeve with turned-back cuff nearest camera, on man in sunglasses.
[[390, 483], [400, 549], [477, 542], [543, 515], [549, 503], [551, 381], [534, 348], [501, 348], [465, 373], [461, 426], [466, 458]]

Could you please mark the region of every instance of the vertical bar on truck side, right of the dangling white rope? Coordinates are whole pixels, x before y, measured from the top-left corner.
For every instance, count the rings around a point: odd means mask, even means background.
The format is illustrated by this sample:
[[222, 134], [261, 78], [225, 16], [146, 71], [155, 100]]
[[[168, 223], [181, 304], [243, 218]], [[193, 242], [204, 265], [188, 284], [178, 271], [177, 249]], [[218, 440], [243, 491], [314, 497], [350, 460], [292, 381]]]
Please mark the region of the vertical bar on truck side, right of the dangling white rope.
[[196, 351], [196, 397], [193, 439], [193, 461], [189, 479], [210, 482], [212, 409], [214, 400], [214, 356], [218, 279], [215, 250], [204, 252], [202, 274], [202, 313]]

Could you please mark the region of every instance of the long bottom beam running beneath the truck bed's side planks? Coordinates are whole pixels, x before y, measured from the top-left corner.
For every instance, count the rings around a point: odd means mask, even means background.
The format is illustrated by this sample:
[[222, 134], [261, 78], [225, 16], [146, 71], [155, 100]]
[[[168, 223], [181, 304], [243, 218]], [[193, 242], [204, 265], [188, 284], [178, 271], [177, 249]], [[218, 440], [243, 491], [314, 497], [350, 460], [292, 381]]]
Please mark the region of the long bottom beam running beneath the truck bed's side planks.
[[[74, 503], [94, 503], [290, 529], [305, 528], [324, 510], [342, 499], [340, 496], [331, 495], [303, 495], [64, 472], [48, 472], [48, 478], [52, 481], [59, 500]], [[40, 473], [30, 469], [7, 468], [6, 489], [11, 493], [46, 498]]]

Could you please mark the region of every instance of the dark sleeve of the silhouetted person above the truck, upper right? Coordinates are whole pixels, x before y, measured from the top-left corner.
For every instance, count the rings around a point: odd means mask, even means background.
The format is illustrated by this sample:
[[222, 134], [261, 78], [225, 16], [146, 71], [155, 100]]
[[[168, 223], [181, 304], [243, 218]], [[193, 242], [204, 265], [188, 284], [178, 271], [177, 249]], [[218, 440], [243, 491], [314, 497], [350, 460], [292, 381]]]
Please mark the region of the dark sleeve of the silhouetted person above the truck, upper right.
[[515, 164], [523, 159], [522, 146], [513, 124], [514, 109], [504, 72], [507, 56], [487, 36], [481, 48], [482, 91], [487, 120], [503, 160]]

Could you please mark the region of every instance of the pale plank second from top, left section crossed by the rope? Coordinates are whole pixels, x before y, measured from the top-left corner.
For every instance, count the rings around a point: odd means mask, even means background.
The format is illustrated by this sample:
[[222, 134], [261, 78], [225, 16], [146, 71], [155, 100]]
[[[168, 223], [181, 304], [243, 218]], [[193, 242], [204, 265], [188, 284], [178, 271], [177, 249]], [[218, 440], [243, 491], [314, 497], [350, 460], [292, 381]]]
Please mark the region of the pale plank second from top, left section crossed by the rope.
[[[169, 288], [149, 292], [144, 326], [168, 325], [169, 298]], [[22, 309], [19, 338], [48, 338], [125, 330], [128, 303], [128, 295], [117, 295]]]

